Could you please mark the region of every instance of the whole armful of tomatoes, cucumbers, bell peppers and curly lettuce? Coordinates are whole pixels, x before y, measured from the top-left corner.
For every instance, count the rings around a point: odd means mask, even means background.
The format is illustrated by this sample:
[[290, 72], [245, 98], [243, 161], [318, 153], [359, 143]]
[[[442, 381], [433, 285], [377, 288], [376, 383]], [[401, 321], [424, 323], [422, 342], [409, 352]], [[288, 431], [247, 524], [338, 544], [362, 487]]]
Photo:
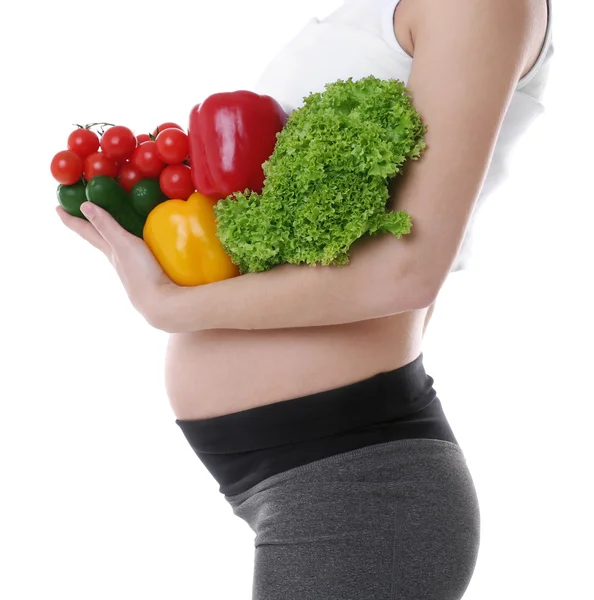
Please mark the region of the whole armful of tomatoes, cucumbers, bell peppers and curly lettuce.
[[241, 90], [197, 104], [187, 133], [79, 126], [51, 169], [65, 210], [84, 218], [82, 202], [98, 204], [193, 286], [281, 263], [342, 265], [365, 234], [410, 233], [406, 212], [386, 211], [388, 185], [420, 157], [425, 130], [403, 82], [369, 76], [326, 85], [290, 117]]

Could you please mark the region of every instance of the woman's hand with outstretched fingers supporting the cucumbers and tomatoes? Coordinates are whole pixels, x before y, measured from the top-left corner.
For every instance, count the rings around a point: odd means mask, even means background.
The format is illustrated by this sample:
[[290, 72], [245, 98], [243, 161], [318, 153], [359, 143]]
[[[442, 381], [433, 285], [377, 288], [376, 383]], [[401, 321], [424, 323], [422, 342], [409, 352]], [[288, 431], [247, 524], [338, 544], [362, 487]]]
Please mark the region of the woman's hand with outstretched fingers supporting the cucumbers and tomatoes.
[[68, 227], [101, 250], [114, 266], [134, 308], [156, 329], [172, 333], [170, 316], [180, 286], [165, 274], [143, 240], [126, 231], [106, 210], [84, 202], [85, 221], [56, 207], [58, 216]]

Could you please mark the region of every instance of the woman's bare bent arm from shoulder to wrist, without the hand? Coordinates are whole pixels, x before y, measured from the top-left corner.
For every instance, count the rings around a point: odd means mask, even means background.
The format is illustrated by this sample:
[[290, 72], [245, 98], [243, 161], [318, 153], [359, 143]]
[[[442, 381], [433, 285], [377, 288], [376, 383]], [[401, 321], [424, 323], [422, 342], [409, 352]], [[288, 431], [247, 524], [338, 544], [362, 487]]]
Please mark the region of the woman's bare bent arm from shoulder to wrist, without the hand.
[[[429, 306], [460, 247], [532, 36], [532, 0], [416, 0], [407, 87], [427, 149], [392, 209], [413, 233], [358, 240], [344, 267], [280, 265], [182, 288], [172, 331], [350, 323]], [[171, 311], [167, 318], [171, 319]]]

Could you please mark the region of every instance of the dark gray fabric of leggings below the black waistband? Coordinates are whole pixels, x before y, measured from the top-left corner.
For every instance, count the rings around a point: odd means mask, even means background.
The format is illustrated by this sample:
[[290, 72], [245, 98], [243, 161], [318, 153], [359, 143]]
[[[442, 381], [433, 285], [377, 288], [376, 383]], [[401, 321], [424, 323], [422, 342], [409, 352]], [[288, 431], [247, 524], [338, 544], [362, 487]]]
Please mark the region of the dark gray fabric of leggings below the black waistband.
[[459, 600], [480, 513], [460, 446], [404, 439], [225, 496], [255, 533], [253, 600]]

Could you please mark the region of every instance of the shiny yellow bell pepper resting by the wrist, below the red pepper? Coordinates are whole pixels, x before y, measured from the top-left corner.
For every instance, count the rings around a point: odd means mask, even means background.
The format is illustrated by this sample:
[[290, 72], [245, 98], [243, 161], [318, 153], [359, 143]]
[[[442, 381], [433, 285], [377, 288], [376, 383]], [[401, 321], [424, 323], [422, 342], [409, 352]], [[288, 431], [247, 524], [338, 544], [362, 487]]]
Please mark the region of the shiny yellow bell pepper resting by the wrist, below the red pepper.
[[187, 200], [161, 202], [147, 217], [144, 241], [178, 285], [203, 285], [239, 275], [239, 267], [216, 236], [217, 202], [195, 192]]

